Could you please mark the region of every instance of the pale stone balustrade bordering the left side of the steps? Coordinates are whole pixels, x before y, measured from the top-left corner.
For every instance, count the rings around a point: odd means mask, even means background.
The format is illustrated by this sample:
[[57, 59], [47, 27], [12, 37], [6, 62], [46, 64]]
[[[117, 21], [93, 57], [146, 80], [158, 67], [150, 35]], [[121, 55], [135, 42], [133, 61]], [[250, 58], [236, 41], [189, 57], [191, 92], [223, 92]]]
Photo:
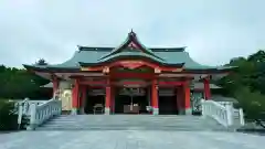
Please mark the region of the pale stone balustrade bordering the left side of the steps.
[[62, 102], [57, 99], [50, 99], [46, 103], [30, 105], [30, 126], [29, 130], [34, 130], [38, 126], [45, 123], [53, 116], [61, 115]]

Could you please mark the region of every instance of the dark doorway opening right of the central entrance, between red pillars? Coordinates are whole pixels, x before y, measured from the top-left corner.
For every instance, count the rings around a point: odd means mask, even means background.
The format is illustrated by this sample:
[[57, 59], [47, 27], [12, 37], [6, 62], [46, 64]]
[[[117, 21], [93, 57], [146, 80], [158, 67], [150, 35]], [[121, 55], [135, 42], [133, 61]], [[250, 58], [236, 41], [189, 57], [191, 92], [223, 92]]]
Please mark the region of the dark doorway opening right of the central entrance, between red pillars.
[[159, 96], [159, 115], [178, 115], [177, 96]]

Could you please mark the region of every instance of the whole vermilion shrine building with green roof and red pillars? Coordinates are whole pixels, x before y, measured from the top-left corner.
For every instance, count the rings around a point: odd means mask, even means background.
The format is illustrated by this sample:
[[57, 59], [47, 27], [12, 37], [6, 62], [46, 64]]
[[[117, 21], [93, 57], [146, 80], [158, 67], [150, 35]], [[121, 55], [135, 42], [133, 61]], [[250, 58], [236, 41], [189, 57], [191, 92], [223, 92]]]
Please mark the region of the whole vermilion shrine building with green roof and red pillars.
[[211, 98], [210, 79], [232, 67], [194, 62], [184, 47], [146, 47], [136, 33], [117, 47], [78, 46], [72, 58], [56, 65], [24, 65], [29, 71], [72, 91], [72, 114], [191, 114], [192, 84], [202, 82], [199, 98]]

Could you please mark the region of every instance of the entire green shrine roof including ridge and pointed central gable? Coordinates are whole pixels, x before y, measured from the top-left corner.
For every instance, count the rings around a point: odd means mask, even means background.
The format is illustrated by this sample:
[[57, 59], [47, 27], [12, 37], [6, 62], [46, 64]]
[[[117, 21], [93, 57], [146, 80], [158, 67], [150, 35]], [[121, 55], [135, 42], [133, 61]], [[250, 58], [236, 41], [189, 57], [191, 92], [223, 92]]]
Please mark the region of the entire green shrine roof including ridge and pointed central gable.
[[[131, 34], [129, 34], [131, 35]], [[25, 67], [34, 67], [39, 70], [49, 70], [49, 68], [57, 68], [57, 70], [78, 70], [81, 67], [80, 64], [100, 64], [104, 62], [113, 61], [116, 58], [149, 58], [157, 63], [163, 65], [176, 65], [176, 64], [184, 64], [184, 70], [193, 70], [193, 71], [209, 71], [209, 70], [230, 70], [232, 67], [214, 67], [201, 65], [193, 61], [189, 53], [184, 51], [184, 47], [153, 47], [148, 49], [144, 46], [139, 41], [141, 50], [128, 49], [128, 40], [131, 40], [129, 36], [118, 47], [87, 47], [87, 46], [78, 46], [78, 51], [74, 53], [74, 55], [62, 64], [54, 65], [24, 65]], [[132, 34], [134, 35], [134, 34]], [[135, 41], [134, 41], [135, 42]], [[123, 46], [125, 49], [123, 49]], [[142, 51], [144, 50], [144, 51]]]

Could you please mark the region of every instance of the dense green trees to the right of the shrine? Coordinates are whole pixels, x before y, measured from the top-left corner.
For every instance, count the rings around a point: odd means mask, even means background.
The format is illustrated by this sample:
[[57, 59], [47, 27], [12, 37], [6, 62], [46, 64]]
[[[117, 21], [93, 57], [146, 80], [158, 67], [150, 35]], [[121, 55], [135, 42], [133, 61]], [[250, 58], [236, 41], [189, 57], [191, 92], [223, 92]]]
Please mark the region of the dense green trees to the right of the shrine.
[[265, 118], [265, 52], [259, 50], [247, 57], [233, 58], [226, 66], [236, 68], [218, 82], [224, 95], [239, 100], [246, 118]]

